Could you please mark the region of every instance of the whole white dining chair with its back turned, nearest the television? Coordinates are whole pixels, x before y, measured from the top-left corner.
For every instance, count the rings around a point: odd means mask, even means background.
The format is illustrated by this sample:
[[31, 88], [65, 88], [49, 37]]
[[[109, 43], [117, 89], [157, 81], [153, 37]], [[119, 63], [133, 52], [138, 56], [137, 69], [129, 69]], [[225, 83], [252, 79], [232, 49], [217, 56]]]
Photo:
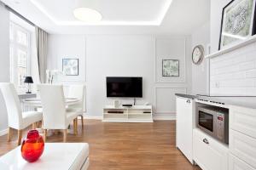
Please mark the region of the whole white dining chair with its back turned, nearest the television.
[[43, 122], [44, 140], [46, 141], [47, 130], [62, 130], [63, 142], [67, 141], [67, 127], [73, 122], [73, 133], [77, 134], [78, 112], [66, 111], [65, 97], [62, 85], [41, 84], [40, 89]]

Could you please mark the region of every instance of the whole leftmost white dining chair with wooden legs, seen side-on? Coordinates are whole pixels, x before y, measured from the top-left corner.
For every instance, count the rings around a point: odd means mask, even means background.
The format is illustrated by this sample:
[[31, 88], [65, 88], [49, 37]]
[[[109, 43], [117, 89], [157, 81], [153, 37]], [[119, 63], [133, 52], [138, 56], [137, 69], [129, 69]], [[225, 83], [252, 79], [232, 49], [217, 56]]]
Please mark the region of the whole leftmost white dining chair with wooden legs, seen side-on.
[[34, 123], [42, 121], [42, 112], [22, 112], [20, 106], [20, 99], [13, 83], [0, 82], [0, 88], [8, 113], [8, 141], [10, 141], [11, 139], [12, 129], [16, 129], [18, 130], [18, 145], [20, 145], [22, 130], [32, 124], [32, 127], [35, 127]]

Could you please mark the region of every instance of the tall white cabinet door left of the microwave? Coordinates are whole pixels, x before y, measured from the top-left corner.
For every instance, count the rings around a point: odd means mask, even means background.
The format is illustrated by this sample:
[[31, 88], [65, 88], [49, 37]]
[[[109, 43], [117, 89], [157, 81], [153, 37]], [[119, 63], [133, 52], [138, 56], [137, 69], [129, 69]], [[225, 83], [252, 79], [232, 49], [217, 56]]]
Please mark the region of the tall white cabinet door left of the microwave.
[[176, 98], [176, 146], [191, 163], [193, 163], [192, 133], [194, 105], [193, 99]]

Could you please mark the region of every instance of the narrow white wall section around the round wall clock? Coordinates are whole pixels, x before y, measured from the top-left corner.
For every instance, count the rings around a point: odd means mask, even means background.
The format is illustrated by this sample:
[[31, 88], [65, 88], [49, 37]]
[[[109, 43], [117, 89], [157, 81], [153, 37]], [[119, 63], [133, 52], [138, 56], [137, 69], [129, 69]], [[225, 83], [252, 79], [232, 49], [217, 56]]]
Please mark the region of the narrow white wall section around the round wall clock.
[[[202, 45], [207, 55], [210, 43], [210, 21], [196, 29], [192, 34], [192, 50]], [[209, 60], [203, 59], [200, 65], [192, 63], [192, 94], [209, 94]]]

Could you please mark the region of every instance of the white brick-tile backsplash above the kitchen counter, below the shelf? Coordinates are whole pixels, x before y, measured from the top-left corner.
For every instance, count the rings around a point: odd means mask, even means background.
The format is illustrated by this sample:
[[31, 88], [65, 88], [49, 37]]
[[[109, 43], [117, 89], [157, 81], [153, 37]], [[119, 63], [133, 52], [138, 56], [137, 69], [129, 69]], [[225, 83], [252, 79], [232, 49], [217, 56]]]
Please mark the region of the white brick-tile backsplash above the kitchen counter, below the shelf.
[[210, 59], [210, 94], [256, 96], [256, 42]]

